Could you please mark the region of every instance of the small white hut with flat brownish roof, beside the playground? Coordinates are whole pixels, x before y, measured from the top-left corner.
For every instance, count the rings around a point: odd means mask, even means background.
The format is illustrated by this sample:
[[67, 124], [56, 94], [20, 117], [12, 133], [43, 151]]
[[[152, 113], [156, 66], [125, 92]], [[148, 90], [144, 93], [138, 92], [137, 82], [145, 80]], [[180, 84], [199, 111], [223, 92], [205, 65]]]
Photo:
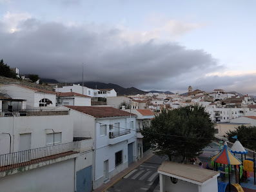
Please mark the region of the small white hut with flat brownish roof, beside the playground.
[[165, 161], [158, 168], [160, 191], [218, 191], [218, 171]]

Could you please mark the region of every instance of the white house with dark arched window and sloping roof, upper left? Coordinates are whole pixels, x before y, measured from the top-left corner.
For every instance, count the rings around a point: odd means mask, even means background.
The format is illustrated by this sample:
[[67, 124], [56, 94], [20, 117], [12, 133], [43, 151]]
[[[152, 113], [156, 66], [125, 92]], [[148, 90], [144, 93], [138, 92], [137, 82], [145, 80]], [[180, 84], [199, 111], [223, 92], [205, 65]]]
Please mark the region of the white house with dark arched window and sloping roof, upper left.
[[12, 99], [26, 100], [27, 108], [56, 106], [56, 93], [54, 91], [40, 90], [19, 84], [8, 84], [0, 86], [0, 93], [10, 95]]

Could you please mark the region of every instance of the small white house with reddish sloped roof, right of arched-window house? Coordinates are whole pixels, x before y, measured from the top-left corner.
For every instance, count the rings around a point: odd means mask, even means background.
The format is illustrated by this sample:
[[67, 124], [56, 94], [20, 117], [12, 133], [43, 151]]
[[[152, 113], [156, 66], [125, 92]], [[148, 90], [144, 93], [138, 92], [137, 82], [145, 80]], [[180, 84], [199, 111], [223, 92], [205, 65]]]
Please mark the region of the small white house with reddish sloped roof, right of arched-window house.
[[56, 106], [91, 106], [91, 98], [90, 96], [75, 92], [57, 93]]

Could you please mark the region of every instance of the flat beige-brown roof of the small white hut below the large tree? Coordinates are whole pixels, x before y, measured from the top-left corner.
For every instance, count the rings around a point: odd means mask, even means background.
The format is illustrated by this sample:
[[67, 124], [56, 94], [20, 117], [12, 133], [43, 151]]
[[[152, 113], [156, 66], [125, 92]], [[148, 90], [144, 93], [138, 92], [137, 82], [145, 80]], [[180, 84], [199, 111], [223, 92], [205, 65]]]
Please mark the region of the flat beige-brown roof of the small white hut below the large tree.
[[[158, 173], [167, 173], [170, 177], [179, 178], [195, 184], [202, 184], [206, 180], [219, 176], [218, 171], [212, 171], [209, 169], [202, 169], [198, 166], [179, 164], [177, 162], [164, 161], [158, 168]], [[184, 178], [184, 179], [182, 179]]]

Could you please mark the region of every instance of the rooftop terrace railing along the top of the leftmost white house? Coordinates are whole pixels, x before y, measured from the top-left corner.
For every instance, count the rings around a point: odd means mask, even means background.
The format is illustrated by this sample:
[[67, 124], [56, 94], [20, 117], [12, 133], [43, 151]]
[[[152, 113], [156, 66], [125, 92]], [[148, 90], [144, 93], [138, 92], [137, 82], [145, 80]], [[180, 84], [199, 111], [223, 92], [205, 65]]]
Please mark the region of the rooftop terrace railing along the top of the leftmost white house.
[[30, 110], [0, 110], [0, 117], [10, 116], [45, 116], [45, 115], [68, 115], [69, 110], [48, 110], [48, 109], [30, 109]]

